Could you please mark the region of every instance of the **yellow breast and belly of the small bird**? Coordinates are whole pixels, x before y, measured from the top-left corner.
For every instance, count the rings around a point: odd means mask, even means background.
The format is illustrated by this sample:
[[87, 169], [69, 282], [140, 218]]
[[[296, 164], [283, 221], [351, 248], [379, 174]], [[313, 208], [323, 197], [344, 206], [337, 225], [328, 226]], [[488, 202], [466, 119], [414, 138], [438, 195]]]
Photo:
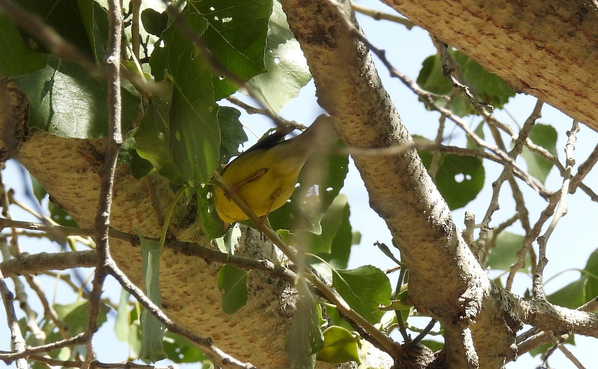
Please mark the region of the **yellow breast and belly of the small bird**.
[[[226, 167], [222, 178], [243, 201], [263, 216], [284, 205], [291, 197], [305, 158], [280, 153], [280, 150], [254, 150], [237, 157]], [[214, 193], [216, 211], [227, 222], [248, 219], [221, 188]]]

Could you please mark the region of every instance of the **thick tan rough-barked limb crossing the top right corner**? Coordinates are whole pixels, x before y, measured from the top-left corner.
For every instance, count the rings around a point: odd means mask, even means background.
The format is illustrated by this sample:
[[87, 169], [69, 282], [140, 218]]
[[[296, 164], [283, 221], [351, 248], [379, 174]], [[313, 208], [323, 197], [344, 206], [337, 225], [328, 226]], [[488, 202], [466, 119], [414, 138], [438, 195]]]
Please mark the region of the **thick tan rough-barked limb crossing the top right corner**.
[[586, 0], [383, 0], [447, 44], [598, 130], [598, 7]]

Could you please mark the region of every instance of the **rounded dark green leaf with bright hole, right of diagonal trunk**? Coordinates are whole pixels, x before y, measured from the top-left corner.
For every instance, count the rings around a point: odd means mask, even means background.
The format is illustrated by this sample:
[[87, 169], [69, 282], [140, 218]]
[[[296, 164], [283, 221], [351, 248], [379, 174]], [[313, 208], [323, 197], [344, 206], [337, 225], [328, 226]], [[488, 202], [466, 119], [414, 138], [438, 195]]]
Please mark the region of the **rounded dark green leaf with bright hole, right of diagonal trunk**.
[[[423, 165], [429, 168], [432, 154], [426, 150], [418, 150]], [[484, 187], [484, 166], [477, 157], [442, 154], [438, 171], [436, 172], [436, 186], [443, 195], [451, 210], [463, 208], [480, 193]]]

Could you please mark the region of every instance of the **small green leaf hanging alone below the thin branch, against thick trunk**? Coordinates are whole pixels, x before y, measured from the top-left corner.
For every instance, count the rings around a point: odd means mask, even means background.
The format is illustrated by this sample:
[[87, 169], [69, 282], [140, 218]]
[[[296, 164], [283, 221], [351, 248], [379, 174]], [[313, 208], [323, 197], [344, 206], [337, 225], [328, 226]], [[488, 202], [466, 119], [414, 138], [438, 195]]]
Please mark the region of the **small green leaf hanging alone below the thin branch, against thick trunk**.
[[218, 289], [222, 297], [222, 311], [236, 313], [247, 304], [247, 276], [249, 272], [228, 264], [218, 272]]

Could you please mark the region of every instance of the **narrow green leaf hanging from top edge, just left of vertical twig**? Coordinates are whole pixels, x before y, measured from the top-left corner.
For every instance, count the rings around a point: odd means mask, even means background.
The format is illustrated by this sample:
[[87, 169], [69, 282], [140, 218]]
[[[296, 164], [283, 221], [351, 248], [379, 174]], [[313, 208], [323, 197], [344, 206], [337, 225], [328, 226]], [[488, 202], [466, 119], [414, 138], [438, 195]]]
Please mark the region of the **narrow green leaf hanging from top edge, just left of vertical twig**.
[[96, 1], [77, 0], [81, 11], [81, 22], [86, 30], [93, 56], [102, 64], [106, 58], [108, 46], [108, 14]]

